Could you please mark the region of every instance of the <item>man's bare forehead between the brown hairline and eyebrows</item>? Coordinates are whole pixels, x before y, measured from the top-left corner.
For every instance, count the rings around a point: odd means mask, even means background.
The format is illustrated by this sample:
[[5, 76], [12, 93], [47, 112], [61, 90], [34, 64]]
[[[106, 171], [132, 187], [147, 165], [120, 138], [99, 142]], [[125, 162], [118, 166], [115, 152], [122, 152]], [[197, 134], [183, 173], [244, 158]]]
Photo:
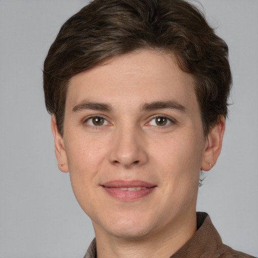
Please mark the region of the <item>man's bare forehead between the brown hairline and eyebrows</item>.
[[[195, 102], [194, 81], [172, 54], [143, 50], [120, 55], [71, 78], [67, 108], [82, 101], [136, 106], [175, 99]], [[197, 103], [197, 102], [196, 102]]]

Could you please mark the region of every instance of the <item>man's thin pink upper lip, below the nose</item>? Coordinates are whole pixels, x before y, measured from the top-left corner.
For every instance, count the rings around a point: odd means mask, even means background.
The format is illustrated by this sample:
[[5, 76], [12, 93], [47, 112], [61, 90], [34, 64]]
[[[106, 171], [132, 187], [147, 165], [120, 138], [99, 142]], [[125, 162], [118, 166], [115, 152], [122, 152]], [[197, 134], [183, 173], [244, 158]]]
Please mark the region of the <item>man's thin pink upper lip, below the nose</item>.
[[155, 184], [141, 181], [141, 180], [131, 180], [131, 181], [125, 181], [125, 180], [112, 180], [105, 182], [101, 184], [102, 186], [105, 187], [114, 187], [114, 188], [122, 188], [122, 187], [147, 187], [151, 188], [156, 186]]

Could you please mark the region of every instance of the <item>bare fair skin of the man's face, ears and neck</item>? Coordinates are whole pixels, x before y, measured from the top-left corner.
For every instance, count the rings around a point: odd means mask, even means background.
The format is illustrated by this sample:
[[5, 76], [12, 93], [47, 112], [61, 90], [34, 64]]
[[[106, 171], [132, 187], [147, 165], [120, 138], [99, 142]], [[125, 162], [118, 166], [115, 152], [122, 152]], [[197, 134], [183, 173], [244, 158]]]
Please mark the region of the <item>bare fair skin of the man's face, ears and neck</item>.
[[[174, 105], [147, 105], [167, 101]], [[170, 257], [195, 233], [200, 169], [216, 163], [224, 128], [221, 118], [204, 136], [193, 79], [171, 54], [120, 55], [71, 78], [63, 137], [52, 117], [55, 153], [92, 219], [99, 258]], [[119, 200], [103, 188], [112, 180], [155, 187]]]

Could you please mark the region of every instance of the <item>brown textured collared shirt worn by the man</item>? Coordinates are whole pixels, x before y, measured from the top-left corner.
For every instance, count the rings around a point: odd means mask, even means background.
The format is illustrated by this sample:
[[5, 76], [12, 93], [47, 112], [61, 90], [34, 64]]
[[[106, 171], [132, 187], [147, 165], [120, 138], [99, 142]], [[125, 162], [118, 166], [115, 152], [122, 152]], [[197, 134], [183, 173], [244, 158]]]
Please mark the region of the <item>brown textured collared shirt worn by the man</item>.
[[[170, 258], [255, 258], [223, 244], [207, 213], [197, 213], [197, 228], [196, 233]], [[97, 258], [95, 239], [91, 242], [84, 258]]]

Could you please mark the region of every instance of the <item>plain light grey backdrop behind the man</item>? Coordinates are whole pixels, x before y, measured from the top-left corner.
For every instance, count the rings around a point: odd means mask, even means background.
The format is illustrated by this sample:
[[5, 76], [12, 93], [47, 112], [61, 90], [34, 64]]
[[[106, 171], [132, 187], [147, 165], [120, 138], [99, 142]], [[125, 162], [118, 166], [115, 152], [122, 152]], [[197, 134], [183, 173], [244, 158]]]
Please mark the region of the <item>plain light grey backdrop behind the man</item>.
[[[0, 0], [0, 257], [80, 258], [94, 237], [58, 171], [42, 66], [60, 26], [88, 2]], [[233, 72], [221, 156], [198, 197], [231, 247], [258, 255], [258, 1], [202, 0]]]

